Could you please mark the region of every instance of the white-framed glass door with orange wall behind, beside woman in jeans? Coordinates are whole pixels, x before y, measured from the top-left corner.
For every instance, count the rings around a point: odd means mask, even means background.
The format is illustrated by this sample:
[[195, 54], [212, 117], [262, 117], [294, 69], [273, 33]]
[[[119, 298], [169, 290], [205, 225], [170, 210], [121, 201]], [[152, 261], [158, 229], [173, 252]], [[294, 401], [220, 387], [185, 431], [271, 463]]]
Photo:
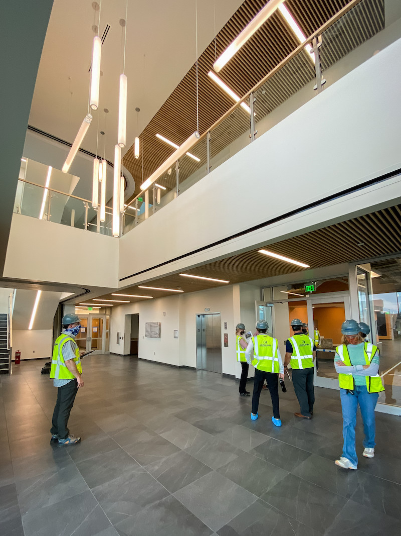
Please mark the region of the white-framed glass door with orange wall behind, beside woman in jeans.
[[317, 363], [315, 385], [338, 389], [338, 374], [334, 368], [336, 346], [341, 344], [341, 324], [351, 318], [348, 295], [307, 300], [309, 335], [315, 340]]

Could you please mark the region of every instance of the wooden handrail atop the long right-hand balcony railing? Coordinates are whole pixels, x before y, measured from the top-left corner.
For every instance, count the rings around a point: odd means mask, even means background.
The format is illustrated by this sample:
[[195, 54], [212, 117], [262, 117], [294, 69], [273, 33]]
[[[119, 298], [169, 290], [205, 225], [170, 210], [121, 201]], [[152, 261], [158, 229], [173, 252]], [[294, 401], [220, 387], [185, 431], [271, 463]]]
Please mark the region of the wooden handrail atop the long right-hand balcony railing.
[[[238, 102], [236, 102], [229, 110], [226, 111], [225, 114], [223, 114], [217, 121], [215, 121], [215, 123], [212, 124], [212, 126], [210, 126], [209, 129], [207, 129], [199, 139], [196, 140], [196, 144], [194, 145], [197, 145], [198, 143], [200, 143], [202, 141], [203, 138], [205, 138], [207, 136], [207, 134], [214, 130], [215, 128], [217, 128], [217, 126], [219, 126], [223, 121], [226, 120], [226, 118], [231, 115], [233, 113], [233, 111], [235, 111], [237, 108], [239, 108], [241, 106], [241, 104], [243, 102], [245, 102], [247, 99], [249, 99], [250, 95], [252, 93], [254, 93], [255, 91], [257, 91], [261, 86], [263, 86], [267, 80], [271, 79], [278, 71], [280, 71], [285, 65], [287, 65], [287, 63], [289, 63], [291, 61], [292, 58], [294, 58], [295, 56], [297, 56], [300, 52], [302, 52], [302, 50], [306, 47], [307, 44], [311, 44], [313, 39], [317, 38], [320, 34], [322, 34], [323, 32], [326, 31], [327, 28], [329, 28], [331, 25], [333, 25], [334, 23], [337, 22], [338, 19], [341, 19], [341, 17], [343, 17], [345, 15], [345, 13], [347, 13], [348, 11], [350, 11], [352, 8], [354, 8], [357, 4], [359, 4], [360, 2], [362, 2], [363, 0], [351, 0], [351, 2], [349, 2], [347, 5], [344, 6], [344, 8], [342, 8], [340, 11], [338, 11], [333, 17], [331, 17], [325, 24], [323, 24], [322, 26], [320, 26], [320, 28], [318, 28], [313, 34], [311, 34], [307, 39], [305, 39], [305, 41], [301, 44], [299, 44], [299, 46], [293, 50], [287, 57], [285, 57], [279, 64], [277, 64], [269, 73], [267, 73], [267, 75], [262, 78], [255, 86], [252, 87], [251, 90], [248, 91], [248, 93], [246, 93], [242, 98], [241, 100], [239, 100]], [[157, 179], [156, 179], [157, 180]], [[149, 188], [147, 188], [146, 190], [149, 190], [150, 188], [153, 187], [153, 184], [151, 186], [149, 186]], [[128, 209], [129, 206], [131, 206], [138, 197], [141, 197], [144, 195], [145, 191], [146, 190], [143, 190], [142, 192], [138, 193], [138, 195], [136, 197], [134, 197], [134, 199], [132, 199], [128, 204], [127, 206], [125, 207], [124, 209], [124, 212], [123, 214], [125, 214], [126, 210]]]

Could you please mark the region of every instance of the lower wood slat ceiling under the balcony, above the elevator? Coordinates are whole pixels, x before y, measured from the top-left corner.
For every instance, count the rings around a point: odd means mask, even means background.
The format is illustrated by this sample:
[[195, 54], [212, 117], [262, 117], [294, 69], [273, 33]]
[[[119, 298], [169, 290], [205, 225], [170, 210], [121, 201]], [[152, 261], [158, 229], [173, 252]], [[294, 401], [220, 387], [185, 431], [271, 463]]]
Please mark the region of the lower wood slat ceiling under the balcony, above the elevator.
[[[298, 237], [282, 240], [275, 244], [268, 244], [266, 245], [266, 249], [309, 264], [311, 268], [318, 268], [333, 264], [356, 262], [371, 257], [396, 254], [398, 252], [401, 255], [400, 229], [401, 205], [395, 205], [370, 214], [361, 215], [358, 218], [304, 233]], [[233, 284], [280, 276], [282, 274], [296, 274], [303, 270], [281, 260], [266, 257], [260, 254], [258, 249], [186, 270], [185, 273], [229, 280]], [[383, 261], [383, 263], [388, 262]], [[376, 262], [375, 266], [380, 269], [379, 262]], [[395, 272], [396, 269], [401, 270], [399, 263], [394, 264], [393, 267]], [[395, 273], [396, 277], [398, 277], [398, 273]], [[184, 292], [196, 292], [208, 288], [216, 288], [222, 284], [196, 279], [191, 281], [179, 274], [173, 274], [144, 283], [143, 285], [182, 289]], [[117, 292], [153, 297], [173, 294], [164, 291], [148, 291], [137, 286]], [[118, 299], [118, 296], [105, 294], [101, 298], [115, 300]], [[142, 301], [141, 299], [127, 297], [122, 297], [121, 299], [132, 302]]]

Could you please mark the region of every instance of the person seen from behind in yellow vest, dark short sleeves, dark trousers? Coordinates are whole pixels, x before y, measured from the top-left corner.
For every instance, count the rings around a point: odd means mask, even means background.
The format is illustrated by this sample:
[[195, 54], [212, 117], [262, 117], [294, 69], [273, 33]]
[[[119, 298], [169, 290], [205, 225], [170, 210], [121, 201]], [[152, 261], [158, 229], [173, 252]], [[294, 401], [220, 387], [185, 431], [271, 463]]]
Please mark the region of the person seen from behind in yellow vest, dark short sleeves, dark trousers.
[[313, 339], [303, 333], [302, 320], [291, 320], [291, 328], [294, 334], [286, 342], [284, 369], [291, 363], [292, 384], [300, 406], [299, 412], [294, 415], [300, 419], [311, 419], [315, 401], [313, 362], [316, 358], [316, 346]]

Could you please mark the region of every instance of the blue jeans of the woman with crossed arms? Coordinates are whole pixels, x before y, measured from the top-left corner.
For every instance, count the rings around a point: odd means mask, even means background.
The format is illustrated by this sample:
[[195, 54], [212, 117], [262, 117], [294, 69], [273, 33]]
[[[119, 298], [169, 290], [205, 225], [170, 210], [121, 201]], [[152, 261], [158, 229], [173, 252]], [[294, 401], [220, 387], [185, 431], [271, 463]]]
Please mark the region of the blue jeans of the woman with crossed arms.
[[343, 410], [343, 438], [344, 446], [342, 457], [348, 458], [352, 464], [358, 465], [357, 451], [355, 449], [355, 426], [357, 424], [358, 404], [364, 423], [365, 448], [375, 446], [375, 407], [379, 393], [368, 393], [366, 385], [356, 385], [354, 394], [340, 389], [341, 406]]

